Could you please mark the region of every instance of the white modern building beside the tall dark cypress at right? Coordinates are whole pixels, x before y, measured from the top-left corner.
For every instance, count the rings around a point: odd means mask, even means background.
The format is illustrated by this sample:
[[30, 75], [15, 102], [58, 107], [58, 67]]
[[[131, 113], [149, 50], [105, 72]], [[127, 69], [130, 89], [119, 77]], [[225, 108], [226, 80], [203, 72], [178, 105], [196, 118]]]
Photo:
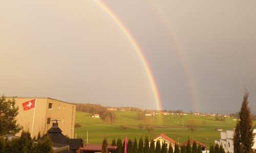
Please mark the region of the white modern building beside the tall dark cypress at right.
[[[256, 129], [253, 130], [253, 133], [256, 133]], [[233, 135], [234, 130], [227, 130], [221, 132], [221, 139], [215, 140], [215, 143], [222, 145], [225, 152], [234, 152], [233, 146]], [[254, 145], [252, 146], [253, 149], [256, 149], [256, 137], [254, 137]]]

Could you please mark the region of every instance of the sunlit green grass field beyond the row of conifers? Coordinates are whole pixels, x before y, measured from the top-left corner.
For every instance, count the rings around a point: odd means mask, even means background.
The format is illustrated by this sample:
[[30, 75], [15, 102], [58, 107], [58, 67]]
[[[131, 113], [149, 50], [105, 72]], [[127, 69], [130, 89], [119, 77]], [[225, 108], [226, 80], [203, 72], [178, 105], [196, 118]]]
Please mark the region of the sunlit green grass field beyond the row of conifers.
[[[236, 118], [226, 118], [223, 121], [216, 121], [215, 117], [209, 116], [192, 116], [184, 115], [156, 115], [152, 117], [152, 125], [154, 130], [147, 133], [145, 129], [140, 130], [137, 121], [137, 112], [124, 112], [115, 111], [116, 120], [114, 123], [107, 125], [99, 118], [92, 118], [91, 114], [84, 112], [76, 112], [76, 123], [80, 123], [81, 127], [75, 128], [76, 138], [82, 138], [84, 144], [88, 143], [101, 144], [104, 137], [106, 137], [111, 144], [115, 138], [124, 140], [125, 137], [134, 138], [139, 140], [140, 137], [153, 139], [157, 135], [164, 133], [166, 136], [174, 139], [175, 141], [182, 143], [187, 141], [188, 137], [200, 141], [206, 145], [214, 143], [215, 139], [220, 139], [220, 132], [216, 131], [216, 127], [222, 127], [223, 131], [232, 130], [237, 121]], [[193, 121], [197, 124], [197, 130], [191, 133], [187, 128], [187, 124]], [[255, 125], [256, 122], [253, 122]], [[121, 125], [125, 125], [127, 128], [123, 130]]]

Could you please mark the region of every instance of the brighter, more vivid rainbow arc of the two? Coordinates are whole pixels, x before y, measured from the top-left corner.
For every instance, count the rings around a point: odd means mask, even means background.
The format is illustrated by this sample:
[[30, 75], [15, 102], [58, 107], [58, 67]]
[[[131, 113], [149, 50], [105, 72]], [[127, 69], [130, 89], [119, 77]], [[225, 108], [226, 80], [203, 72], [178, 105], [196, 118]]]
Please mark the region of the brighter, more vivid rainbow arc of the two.
[[127, 37], [127, 39], [129, 39], [129, 41], [131, 42], [132, 46], [135, 48], [145, 70], [148, 76], [148, 79], [150, 80], [150, 84], [152, 86], [152, 90], [154, 93], [154, 97], [155, 97], [155, 101], [156, 101], [156, 105], [157, 105], [157, 109], [158, 110], [162, 110], [162, 105], [161, 105], [161, 100], [160, 100], [160, 96], [157, 90], [157, 85], [156, 82], [154, 80], [152, 71], [150, 69], [150, 66], [148, 66], [148, 63], [142, 53], [142, 50], [140, 49], [139, 45], [137, 44], [136, 40], [133, 38], [132, 34], [126, 29], [126, 27], [124, 26], [124, 24], [120, 21], [120, 19], [101, 1], [95, 1], [98, 6], [100, 6], [106, 13], [108, 13], [108, 15], [117, 23], [118, 27], [122, 30], [122, 32], [124, 33], [124, 35]]

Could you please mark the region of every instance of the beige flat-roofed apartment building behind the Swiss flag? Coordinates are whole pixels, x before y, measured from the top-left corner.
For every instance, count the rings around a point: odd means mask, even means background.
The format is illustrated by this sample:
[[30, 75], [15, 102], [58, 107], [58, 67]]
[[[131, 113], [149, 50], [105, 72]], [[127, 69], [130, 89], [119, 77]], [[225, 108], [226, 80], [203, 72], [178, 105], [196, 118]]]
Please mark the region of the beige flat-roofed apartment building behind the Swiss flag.
[[[17, 123], [24, 127], [23, 130], [29, 130], [32, 138], [37, 137], [39, 132], [41, 136], [46, 134], [52, 123], [56, 121], [63, 135], [74, 138], [75, 105], [52, 98], [37, 97], [34, 101], [35, 97], [14, 97], [14, 99], [15, 106], [19, 108]], [[35, 102], [35, 107], [31, 102]], [[31, 108], [24, 110], [24, 106]], [[16, 136], [20, 136], [21, 132]]]

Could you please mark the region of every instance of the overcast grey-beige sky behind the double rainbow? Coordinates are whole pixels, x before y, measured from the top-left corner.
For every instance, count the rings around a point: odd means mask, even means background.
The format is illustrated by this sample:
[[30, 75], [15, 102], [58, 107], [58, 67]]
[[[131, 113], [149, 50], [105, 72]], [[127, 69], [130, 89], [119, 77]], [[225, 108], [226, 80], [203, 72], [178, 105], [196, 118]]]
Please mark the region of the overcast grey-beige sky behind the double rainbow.
[[[256, 114], [256, 1], [99, 1], [141, 48], [162, 109]], [[133, 44], [96, 1], [1, 1], [0, 93], [157, 109]]]

